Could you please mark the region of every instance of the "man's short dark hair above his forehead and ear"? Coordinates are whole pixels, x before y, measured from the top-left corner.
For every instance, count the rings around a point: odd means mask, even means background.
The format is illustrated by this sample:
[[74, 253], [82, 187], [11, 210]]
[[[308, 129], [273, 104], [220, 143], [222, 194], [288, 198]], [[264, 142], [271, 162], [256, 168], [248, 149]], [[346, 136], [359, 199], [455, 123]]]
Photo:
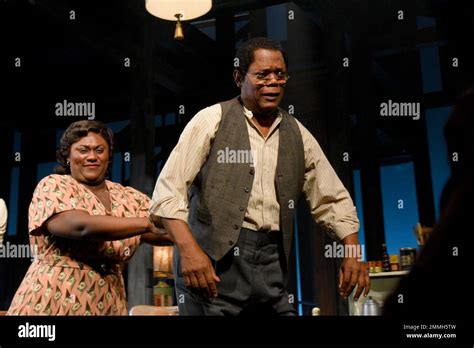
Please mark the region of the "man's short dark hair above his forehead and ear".
[[286, 68], [288, 69], [288, 58], [281, 44], [278, 41], [270, 40], [266, 37], [256, 37], [245, 41], [239, 46], [235, 53], [235, 58], [238, 59], [239, 65], [235, 69], [246, 74], [250, 64], [255, 60], [255, 51], [258, 49], [280, 51], [285, 60]]

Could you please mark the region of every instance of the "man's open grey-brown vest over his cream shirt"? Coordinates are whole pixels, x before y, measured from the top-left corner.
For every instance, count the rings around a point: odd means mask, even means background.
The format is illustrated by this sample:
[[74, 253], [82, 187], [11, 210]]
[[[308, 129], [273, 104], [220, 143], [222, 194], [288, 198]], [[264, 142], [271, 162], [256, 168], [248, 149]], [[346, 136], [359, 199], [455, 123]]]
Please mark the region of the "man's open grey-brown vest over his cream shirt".
[[[255, 174], [252, 163], [219, 163], [222, 162], [220, 151], [230, 153], [234, 150], [234, 154], [239, 150], [250, 152], [242, 104], [235, 98], [221, 103], [221, 107], [222, 119], [209, 156], [189, 191], [188, 219], [197, 242], [216, 261], [239, 238]], [[280, 109], [280, 112], [283, 118], [279, 125], [275, 186], [280, 204], [280, 231], [288, 262], [293, 238], [293, 216], [303, 188], [305, 162], [298, 125], [286, 111]]]

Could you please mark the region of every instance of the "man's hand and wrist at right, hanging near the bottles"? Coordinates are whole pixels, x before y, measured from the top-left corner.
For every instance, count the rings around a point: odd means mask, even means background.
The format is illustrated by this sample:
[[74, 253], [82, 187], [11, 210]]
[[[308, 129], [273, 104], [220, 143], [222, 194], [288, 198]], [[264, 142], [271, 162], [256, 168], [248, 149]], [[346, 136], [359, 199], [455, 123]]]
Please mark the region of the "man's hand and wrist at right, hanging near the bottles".
[[[351, 234], [343, 239], [344, 245], [355, 245], [360, 250], [357, 234]], [[359, 255], [362, 257], [362, 255]], [[342, 297], [347, 298], [354, 288], [357, 291], [354, 295], [354, 301], [357, 301], [362, 292], [367, 296], [370, 290], [370, 278], [366, 265], [357, 257], [346, 257], [342, 261], [339, 270], [339, 293]]]

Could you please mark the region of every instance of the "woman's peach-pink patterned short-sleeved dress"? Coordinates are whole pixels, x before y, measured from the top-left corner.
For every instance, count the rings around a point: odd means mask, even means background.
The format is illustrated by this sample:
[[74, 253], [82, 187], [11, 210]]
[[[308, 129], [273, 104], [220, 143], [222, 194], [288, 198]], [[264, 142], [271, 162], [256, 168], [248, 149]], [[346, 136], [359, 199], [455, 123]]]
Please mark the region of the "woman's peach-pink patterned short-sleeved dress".
[[[147, 217], [149, 198], [106, 181], [112, 216]], [[124, 264], [140, 236], [117, 241], [62, 238], [43, 226], [54, 214], [82, 209], [107, 215], [101, 201], [70, 175], [50, 175], [36, 187], [29, 208], [30, 244], [35, 259], [20, 284], [8, 315], [127, 315]]]

